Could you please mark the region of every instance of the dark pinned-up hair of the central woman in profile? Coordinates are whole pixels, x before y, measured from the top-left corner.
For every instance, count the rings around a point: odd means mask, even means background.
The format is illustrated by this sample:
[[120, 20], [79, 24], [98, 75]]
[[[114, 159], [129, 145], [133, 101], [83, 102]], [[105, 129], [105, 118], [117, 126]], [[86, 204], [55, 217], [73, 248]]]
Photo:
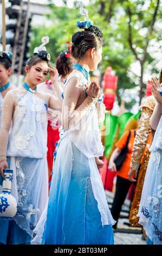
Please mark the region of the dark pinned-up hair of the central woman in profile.
[[89, 48], [99, 48], [102, 45], [102, 36], [102, 31], [96, 26], [76, 32], [72, 36], [72, 56], [75, 59], [81, 59]]

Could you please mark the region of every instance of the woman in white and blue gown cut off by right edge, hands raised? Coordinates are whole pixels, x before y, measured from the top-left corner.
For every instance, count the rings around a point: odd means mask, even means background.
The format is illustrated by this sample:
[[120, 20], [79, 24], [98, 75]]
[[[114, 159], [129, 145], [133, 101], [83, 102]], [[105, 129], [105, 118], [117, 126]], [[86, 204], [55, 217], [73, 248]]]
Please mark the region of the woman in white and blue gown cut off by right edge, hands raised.
[[146, 231], [147, 243], [162, 245], [162, 84], [154, 78], [151, 83], [152, 93], [157, 100], [151, 126], [156, 131], [137, 216]]

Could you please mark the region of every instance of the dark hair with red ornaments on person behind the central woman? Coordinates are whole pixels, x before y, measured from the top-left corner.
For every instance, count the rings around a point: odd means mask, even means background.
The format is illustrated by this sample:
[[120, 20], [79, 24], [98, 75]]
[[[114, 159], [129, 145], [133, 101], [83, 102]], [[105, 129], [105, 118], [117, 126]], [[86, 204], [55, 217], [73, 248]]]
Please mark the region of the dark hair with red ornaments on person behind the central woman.
[[65, 50], [60, 53], [59, 57], [56, 59], [56, 69], [60, 76], [67, 76], [73, 69], [73, 59], [71, 57], [70, 51]]

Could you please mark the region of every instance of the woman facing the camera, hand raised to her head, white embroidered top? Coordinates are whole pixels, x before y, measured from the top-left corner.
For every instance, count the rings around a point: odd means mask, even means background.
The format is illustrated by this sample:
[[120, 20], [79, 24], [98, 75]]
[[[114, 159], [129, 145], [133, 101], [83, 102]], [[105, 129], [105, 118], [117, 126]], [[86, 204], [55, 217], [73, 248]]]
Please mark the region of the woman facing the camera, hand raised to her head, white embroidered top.
[[[37, 92], [37, 84], [55, 81], [49, 54], [40, 50], [25, 66], [22, 87], [10, 90], [3, 102], [0, 131], [0, 170], [13, 170], [11, 194], [17, 200], [12, 221], [0, 221], [0, 242], [29, 244], [48, 199], [47, 109], [60, 110], [62, 97], [56, 85], [52, 94]], [[11, 125], [12, 124], [12, 125]], [[9, 132], [10, 130], [10, 132]]]

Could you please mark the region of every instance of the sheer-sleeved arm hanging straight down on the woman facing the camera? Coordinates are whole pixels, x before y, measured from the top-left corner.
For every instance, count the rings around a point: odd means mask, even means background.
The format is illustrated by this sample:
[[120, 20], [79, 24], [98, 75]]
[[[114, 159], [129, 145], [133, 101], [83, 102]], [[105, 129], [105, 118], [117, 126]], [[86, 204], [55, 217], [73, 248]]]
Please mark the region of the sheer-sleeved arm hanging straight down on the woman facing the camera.
[[3, 176], [3, 169], [8, 168], [7, 164], [7, 145], [9, 130], [14, 112], [14, 97], [10, 92], [4, 98], [2, 109], [2, 126], [0, 130], [0, 173]]

